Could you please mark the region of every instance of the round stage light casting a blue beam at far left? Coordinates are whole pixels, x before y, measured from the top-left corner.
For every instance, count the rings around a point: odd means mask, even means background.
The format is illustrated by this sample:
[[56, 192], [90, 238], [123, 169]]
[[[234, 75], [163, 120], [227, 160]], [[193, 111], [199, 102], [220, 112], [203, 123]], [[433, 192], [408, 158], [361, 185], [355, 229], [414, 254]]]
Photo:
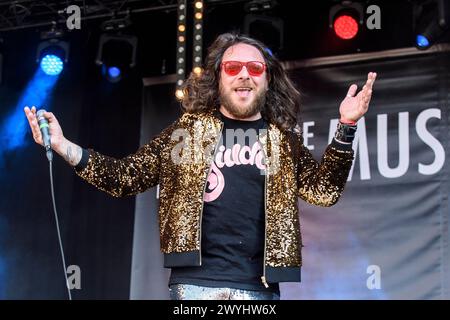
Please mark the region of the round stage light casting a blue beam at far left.
[[63, 32], [52, 30], [41, 33], [42, 41], [37, 48], [36, 62], [49, 76], [59, 75], [68, 61], [69, 43], [62, 41]]

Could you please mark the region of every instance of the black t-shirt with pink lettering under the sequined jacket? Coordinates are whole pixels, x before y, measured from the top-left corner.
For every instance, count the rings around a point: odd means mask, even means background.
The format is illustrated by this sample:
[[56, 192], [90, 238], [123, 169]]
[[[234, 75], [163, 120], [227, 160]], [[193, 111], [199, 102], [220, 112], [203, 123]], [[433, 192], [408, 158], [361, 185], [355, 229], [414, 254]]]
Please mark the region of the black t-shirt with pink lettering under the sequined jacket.
[[257, 135], [264, 120], [222, 120], [204, 193], [202, 265], [172, 268], [169, 284], [278, 292], [278, 284], [261, 282], [265, 161]]

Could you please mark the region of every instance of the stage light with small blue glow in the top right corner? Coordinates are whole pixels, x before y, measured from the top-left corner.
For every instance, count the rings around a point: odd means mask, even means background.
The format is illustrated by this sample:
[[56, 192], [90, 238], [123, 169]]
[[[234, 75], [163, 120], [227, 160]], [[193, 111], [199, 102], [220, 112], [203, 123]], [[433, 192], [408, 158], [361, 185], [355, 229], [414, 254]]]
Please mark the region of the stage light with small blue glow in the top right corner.
[[414, 6], [415, 45], [428, 49], [449, 27], [450, 5], [445, 0], [429, 0]]

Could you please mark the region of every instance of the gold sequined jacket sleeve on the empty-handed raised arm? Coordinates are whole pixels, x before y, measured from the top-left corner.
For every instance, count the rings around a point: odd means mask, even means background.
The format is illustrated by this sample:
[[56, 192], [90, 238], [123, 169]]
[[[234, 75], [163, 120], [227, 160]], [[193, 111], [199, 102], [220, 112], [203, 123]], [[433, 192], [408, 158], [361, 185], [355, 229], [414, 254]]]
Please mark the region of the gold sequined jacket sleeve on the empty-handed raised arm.
[[299, 197], [318, 206], [334, 205], [344, 191], [352, 167], [354, 156], [352, 145], [333, 139], [325, 150], [321, 162], [318, 163], [308, 148], [303, 145], [301, 134], [298, 134], [298, 137], [300, 142], [297, 158]]

